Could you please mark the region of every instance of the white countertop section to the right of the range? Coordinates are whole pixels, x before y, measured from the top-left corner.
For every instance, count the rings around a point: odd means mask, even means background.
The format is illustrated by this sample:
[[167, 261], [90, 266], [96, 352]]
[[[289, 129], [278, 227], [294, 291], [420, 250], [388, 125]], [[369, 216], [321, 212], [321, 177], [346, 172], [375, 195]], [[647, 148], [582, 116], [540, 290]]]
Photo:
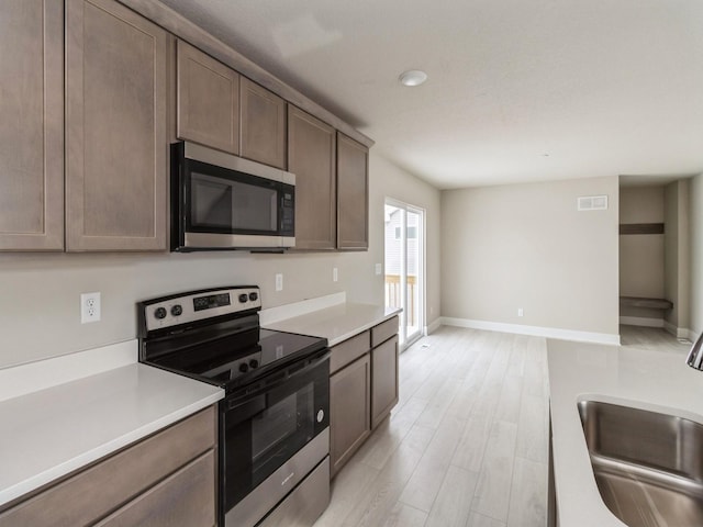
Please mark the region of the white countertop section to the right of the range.
[[344, 302], [277, 322], [263, 321], [261, 325], [267, 329], [323, 337], [332, 347], [400, 312], [398, 307]]

